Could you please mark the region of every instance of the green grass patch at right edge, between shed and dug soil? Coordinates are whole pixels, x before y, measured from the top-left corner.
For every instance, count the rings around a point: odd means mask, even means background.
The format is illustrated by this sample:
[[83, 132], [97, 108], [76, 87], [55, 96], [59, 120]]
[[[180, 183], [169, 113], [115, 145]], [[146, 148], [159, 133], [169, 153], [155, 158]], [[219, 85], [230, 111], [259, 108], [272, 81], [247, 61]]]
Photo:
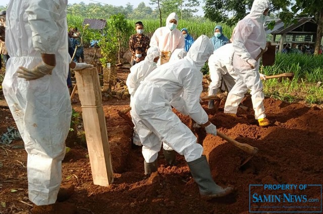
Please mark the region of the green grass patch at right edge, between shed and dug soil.
[[323, 104], [323, 88], [316, 86], [318, 81], [323, 81], [323, 56], [278, 54], [275, 65], [263, 67], [260, 72], [265, 75], [295, 74], [288, 90], [288, 78], [264, 81], [263, 92], [266, 96], [289, 103]]

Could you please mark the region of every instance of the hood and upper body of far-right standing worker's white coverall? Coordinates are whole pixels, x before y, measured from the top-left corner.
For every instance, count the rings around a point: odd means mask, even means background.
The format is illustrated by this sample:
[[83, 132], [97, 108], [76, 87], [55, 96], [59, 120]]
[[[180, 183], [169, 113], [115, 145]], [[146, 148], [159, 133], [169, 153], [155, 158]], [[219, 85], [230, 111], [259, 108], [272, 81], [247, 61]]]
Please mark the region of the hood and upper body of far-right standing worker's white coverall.
[[[265, 16], [263, 12], [270, 7], [268, 0], [255, 0], [250, 14], [240, 20], [233, 34], [233, 48], [240, 61], [255, 59], [265, 48], [266, 33], [264, 31]], [[249, 66], [237, 61], [237, 66]]]

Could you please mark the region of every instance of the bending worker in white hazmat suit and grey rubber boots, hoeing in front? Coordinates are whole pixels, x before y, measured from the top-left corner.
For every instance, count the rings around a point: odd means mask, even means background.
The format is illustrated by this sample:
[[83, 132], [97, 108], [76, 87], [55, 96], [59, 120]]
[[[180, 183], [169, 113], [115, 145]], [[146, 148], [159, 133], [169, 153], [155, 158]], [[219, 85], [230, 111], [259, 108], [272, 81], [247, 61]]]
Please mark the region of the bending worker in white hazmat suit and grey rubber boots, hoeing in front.
[[203, 147], [191, 130], [172, 111], [172, 106], [189, 115], [208, 134], [217, 135], [199, 100], [203, 75], [200, 69], [213, 53], [209, 38], [201, 35], [184, 59], [169, 62], [151, 72], [134, 95], [131, 116], [137, 128], [144, 157], [145, 175], [157, 170], [161, 141], [184, 155], [201, 195], [220, 197], [233, 191], [214, 183]]

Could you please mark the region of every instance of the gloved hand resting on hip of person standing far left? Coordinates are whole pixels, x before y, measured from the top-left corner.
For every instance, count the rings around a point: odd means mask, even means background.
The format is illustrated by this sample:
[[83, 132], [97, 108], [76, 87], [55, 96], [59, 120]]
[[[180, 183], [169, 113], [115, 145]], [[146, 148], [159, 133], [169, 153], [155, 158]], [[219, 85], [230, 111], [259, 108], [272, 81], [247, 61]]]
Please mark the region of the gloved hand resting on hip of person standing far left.
[[44, 75], [51, 74], [52, 69], [55, 66], [47, 65], [44, 62], [39, 63], [35, 67], [28, 69], [25, 67], [19, 67], [17, 73], [18, 77], [25, 78], [26, 80], [33, 80], [43, 77]]

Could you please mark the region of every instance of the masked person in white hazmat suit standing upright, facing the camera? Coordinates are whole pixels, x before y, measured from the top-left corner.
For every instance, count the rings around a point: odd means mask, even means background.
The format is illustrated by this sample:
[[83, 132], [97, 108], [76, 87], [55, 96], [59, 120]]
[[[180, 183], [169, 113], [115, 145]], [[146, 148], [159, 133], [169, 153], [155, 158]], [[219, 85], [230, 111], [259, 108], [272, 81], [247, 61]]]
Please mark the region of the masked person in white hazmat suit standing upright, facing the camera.
[[[166, 19], [166, 26], [155, 30], [150, 38], [149, 46], [158, 47], [160, 52], [169, 52], [168, 57], [171, 57], [175, 49], [184, 49], [184, 36], [177, 29], [178, 20], [176, 13], [171, 13]], [[160, 59], [157, 64], [160, 65]]]

